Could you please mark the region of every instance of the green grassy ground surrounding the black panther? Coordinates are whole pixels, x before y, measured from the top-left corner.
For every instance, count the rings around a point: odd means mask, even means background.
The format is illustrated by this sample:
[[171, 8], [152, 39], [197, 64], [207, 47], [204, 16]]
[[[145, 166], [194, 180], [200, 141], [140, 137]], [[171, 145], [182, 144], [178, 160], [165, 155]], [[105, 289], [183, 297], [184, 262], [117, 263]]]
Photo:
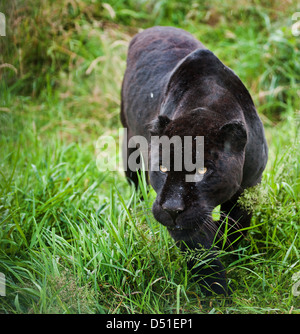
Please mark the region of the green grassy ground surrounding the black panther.
[[[296, 1], [1, 1], [1, 313], [300, 313]], [[299, 9], [298, 9], [299, 11]], [[231, 298], [205, 299], [184, 255], [95, 143], [120, 127], [131, 37], [189, 30], [244, 81], [270, 158], [247, 240], [224, 255]], [[142, 191], [145, 192], [143, 180]], [[201, 260], [201, 259], [200, 259]]]

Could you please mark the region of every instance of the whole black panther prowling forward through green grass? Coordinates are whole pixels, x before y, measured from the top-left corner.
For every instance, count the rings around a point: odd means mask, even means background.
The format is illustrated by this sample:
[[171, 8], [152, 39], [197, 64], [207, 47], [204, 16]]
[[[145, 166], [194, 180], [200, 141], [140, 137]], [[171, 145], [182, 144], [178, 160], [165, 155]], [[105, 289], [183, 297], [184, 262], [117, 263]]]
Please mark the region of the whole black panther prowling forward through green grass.
[[[136, 135], [149, 143], [155, 135], [204, 136], [204, 166], [193, 172], [201, 181], [186, 182], [190, 172], [173, 170], [172, 162], [169, 169], [160, 165], [151, 170], [150, 158], [147, 178], [157, 193], [155, 219], [183, 250], [211, 250], [210, 266], [193, 270], [204, 277], [208, 294], [227, 294], [226, 273], [213, 245], [225, 232], [231, 246], [245, 235], [252, 214], [237, 200], [260, 183], [268, 159], [263, 125], [248, 90], [190, 33], [153, 27], [135, 35], [129, 45], [121, 121], [127, 141]], [[137, 149], [128, 149], [127, 142], [123, 148], [127, 157]], [[126, 170], [136, 186], [137, 172]], [[212, 211], [219, 205], [221, 216], [214, 221]]]

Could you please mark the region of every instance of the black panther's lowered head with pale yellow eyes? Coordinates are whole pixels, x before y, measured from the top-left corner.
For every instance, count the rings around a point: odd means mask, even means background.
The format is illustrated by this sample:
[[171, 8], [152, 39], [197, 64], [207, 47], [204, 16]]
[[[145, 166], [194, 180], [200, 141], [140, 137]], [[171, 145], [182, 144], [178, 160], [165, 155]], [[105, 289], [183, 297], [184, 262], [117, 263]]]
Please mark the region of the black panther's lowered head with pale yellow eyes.
[[[157, 221], [165, 225], [176, 241], [184, 241], [190, 248], [198, 244], [208, 248], [218, 229], [212, 219], [213, 209], [228, 201], [240, 188], [243, 175], [244, 151], [247, 131], [241, 120], [226, 121], [214, 112], [199, 108], [170, 120], [159, 116], [152, 122], [152, 135], [204, 136], [204, 166], [194, 171], [174, 170], [174, 150], [171, 145], [170, 166], [161, 163], [159, 170], [150, 170], [150, 183], [157, 193], [152, 212]], [[192, 140], [195, 143], [194, 140]], [[184, 157], [185, 147], [182, 145]], [[192, 145], [195, 162], [196, 146]], [[153, 158], [153, 157], [152, 157]], [[201, 176], [187, 182], [186, 175]]]

